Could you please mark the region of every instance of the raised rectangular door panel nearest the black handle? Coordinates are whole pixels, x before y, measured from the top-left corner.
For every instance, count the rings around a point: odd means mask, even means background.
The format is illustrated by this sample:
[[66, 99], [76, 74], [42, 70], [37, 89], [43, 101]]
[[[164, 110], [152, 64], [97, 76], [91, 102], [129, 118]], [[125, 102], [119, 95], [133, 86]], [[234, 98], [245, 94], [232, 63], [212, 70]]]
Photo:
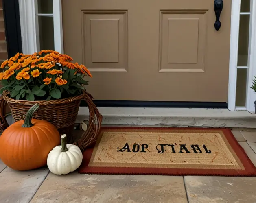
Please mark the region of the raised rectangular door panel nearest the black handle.
[[207, 11], [160, 11], [159, 72], [204, 72]]

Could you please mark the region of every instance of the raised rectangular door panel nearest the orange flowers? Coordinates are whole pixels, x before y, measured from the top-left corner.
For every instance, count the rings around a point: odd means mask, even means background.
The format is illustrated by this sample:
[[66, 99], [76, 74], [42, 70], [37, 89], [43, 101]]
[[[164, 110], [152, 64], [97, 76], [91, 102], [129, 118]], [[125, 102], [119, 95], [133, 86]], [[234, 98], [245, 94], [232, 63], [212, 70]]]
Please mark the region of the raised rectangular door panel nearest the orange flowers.
[[128, 72], [127, 11], [82, 11], [83, 63], [91, 72]]

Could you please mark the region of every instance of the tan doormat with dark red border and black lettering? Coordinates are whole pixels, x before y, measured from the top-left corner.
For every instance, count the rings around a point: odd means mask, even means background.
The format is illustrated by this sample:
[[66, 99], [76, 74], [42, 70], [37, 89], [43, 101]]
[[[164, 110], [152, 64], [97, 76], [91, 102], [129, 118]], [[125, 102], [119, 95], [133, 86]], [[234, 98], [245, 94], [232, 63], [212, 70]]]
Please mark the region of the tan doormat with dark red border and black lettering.
[[102, 128], [79, 173], [255, 176], [230, 129]]

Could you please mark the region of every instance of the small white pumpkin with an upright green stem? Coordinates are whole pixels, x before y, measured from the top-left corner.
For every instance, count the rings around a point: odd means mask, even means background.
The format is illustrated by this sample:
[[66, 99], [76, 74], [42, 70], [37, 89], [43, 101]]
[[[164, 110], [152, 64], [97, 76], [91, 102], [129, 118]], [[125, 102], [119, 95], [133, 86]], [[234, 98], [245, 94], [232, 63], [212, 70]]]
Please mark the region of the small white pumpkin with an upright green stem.
[[65, 175], [81, 165], [83, 154], [78, 146], [67, 144], [67, 135], [61, 135], [61, 146], [55, 146], [47, 157], [47, 166], [50, 172], [56, 175]]

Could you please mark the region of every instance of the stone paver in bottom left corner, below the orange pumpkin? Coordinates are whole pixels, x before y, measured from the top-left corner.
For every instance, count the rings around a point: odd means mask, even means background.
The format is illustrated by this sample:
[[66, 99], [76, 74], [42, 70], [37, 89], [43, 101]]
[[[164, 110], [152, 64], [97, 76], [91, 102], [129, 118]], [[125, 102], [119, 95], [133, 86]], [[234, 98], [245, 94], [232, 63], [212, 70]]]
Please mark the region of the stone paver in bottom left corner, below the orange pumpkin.
[[0, 173], [0, 203], [29, 203], [49, 170], [15, 171], [7, 167]]

